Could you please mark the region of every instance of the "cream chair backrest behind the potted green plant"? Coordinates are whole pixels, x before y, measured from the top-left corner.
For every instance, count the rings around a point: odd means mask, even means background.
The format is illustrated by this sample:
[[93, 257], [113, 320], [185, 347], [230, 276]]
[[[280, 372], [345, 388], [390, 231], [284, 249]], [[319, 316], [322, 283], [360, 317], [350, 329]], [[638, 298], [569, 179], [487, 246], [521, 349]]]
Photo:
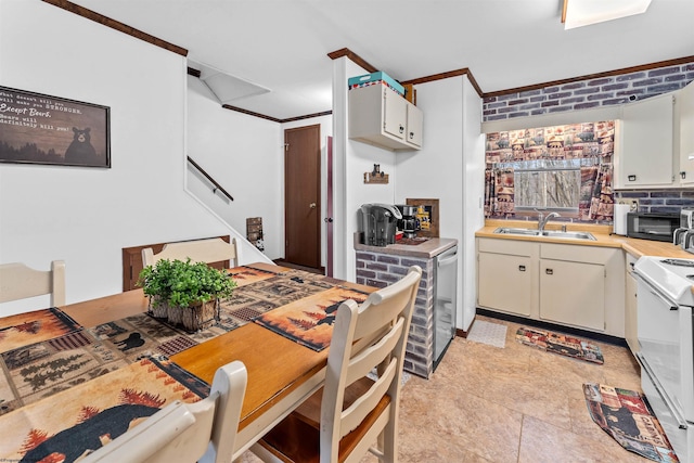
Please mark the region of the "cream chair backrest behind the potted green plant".
[[158, 254], [154, 254], [151, 247], [142, 249], [144, 267], [153, 266], [162, 259], [185, 260], [189, 257], [193, 262], [205, 263], [229, 260], [230, 267], [236, 267], [239, 265], [236, 239], [231, 239], [231, 243], [220, 237], [168, 243]]

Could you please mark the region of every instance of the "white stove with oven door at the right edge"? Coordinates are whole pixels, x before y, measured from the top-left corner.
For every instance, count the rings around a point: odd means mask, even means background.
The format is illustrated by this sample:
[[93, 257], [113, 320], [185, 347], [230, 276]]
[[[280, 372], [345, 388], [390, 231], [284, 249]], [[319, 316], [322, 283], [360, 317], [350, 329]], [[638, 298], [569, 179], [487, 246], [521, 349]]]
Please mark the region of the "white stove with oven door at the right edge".
[[694, 461], [694, 259], [634, 265], [641, 387], [681, 462]]

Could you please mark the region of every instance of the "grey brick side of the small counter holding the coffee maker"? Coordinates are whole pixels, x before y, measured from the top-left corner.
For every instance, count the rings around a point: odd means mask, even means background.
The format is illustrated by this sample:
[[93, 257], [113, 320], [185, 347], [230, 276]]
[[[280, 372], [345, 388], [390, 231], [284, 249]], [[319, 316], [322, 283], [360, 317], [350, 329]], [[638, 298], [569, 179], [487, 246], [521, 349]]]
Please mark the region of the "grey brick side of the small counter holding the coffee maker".
[[434, 259], [393, 254], [357, 252], [357, 283], [386, 287], [407, 274], [411, 266], [422, 268], [404, 355], [404, 370], [422, 377], [434, 371]]

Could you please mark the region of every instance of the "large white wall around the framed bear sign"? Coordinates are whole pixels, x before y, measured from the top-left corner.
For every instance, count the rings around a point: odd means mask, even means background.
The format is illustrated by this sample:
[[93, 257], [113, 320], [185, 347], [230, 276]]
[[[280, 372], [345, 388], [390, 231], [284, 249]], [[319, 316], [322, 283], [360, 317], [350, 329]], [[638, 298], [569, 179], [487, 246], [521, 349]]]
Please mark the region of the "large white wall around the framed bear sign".
[[229, 233], [182, 188], [182, 56], [38, 0], [0, 9], [0, 85], [110, 106], [112, 157], [111, 169], [0, 165], [0, 262], [64, 259], [75, 303], [121, 291], [123, 247]]

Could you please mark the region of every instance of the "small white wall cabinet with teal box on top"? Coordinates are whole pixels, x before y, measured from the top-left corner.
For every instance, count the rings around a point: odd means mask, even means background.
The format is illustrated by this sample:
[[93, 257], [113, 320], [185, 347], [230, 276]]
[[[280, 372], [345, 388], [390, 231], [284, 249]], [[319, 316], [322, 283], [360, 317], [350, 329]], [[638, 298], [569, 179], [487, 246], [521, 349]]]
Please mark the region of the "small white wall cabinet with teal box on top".
[[384, 85], [349, 90], [349, 138], [388, 150], [420, 150], [422, 111]]

